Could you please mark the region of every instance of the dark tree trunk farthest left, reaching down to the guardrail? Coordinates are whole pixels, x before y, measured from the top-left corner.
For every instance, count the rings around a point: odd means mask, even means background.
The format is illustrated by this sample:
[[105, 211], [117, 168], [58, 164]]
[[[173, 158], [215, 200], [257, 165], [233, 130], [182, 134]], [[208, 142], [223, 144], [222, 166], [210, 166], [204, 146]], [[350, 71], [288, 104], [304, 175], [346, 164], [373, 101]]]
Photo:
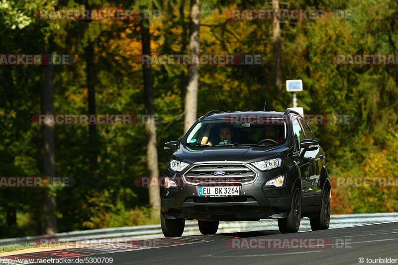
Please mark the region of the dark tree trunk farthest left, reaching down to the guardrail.
[[[41, 80], [41, 113], [54, 114], [53, 106], [53, 67], [42, 66]], [[55, 134], [54, 125], [45, 124], [43, 132], [43, 174], [46, 177], [55, 177]], [[47, 191], [44, 194], [44, 233], [55, 234], [57, 232], [57, 218], [55, 211], [57, 202]]]

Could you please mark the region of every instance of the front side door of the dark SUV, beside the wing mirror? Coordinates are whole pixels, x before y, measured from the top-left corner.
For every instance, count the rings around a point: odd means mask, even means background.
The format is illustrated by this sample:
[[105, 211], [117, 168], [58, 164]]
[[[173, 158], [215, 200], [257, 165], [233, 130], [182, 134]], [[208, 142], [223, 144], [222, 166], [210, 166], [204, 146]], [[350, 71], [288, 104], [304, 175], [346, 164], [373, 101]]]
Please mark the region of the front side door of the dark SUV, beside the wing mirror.
[[[299, 122], [297, 116], [292, 118], [292, 128], [293, 128], [293, 138], [295, 145], [295, 155], [298, 155], [300, 152], [300, 141], [305, 139], [304, 130], [302, 125]], [[295, 163], [298, 165], [301, 174], [301, 183], [302, 183], [302, 206], [312, 205], [313, 203], [313, 193], [312, 191], [312, 183], [310, 181], [310, 171], [311, 171], [311, 162], [310, 158], [304, 155], [303, 158], [295, 158]]]

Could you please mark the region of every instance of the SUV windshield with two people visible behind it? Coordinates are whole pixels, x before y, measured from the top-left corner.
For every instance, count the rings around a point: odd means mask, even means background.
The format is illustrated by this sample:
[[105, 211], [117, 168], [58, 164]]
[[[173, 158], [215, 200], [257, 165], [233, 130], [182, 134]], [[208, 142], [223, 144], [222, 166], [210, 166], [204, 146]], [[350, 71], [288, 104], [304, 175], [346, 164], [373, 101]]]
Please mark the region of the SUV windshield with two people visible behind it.
[[195, 146], [253, 145], [269, 147], [286, 139], [286, 123], [282, 119], [272, 122], [230, 122], [214, 119], [199, 122], [187, 138]]

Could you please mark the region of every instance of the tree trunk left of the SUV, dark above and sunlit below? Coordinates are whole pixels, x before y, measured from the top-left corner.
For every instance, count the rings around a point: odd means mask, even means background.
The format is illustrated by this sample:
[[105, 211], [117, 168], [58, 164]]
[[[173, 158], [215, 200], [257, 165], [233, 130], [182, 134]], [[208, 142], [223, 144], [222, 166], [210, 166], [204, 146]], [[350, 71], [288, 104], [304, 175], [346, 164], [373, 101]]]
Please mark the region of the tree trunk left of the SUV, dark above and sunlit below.
[[[151, 54], [151, 42], [149, 33], [149, 20], [141, 20], [141, 40], [142, 40], [142, 54]], [[145, 114], [153, 117], [155, 114], [155, 104], [153, 102], [153, 76], [151, 65], [143, 65], [143, 76], [144, 76], [144, 104]], [[156, 124], [154, 119], [150, 119], [145, 124], [145, 130], [148, 135], [147, 140], [147, 165], [149, 177], [159, 177], [158, 167], [158, 150], [156, 142]], [[156, 181], [155, 183], [157, 183]], [[152, 183], [152, 181], [150, 181]], [[160, 190], [158, 186], [149, 187], [149, 204], [152, 208], [152, 217], [157, 218], [160, 210]]]

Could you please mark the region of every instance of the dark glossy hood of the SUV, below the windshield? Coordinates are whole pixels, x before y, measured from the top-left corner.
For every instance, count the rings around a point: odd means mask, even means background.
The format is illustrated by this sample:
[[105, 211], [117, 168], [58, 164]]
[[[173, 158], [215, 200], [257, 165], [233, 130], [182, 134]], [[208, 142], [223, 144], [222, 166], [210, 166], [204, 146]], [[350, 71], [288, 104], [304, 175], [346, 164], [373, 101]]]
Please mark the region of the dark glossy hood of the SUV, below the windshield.
[[276, 157], [281, 157], [283, 159], [286, 157], [288, 150], [289, 149], [284, 145], [268, 148], [252, 146], [217, 146], [195, 149], [180, 145], [180, 149], [174, 153], [173, 158], [190, 164], [204, 161], [242, 161], [245, 163], [252, 163]]

